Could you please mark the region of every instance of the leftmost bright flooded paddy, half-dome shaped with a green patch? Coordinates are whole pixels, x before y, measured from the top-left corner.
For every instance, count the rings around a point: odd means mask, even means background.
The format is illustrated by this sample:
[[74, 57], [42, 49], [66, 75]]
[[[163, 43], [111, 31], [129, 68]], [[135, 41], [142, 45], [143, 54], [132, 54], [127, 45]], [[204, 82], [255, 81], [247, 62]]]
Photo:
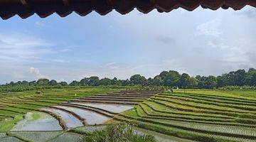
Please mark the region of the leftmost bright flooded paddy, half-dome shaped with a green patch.
[[[33, 118], [36, 116], [36, 118]], [[42, 112], [28, 112], [25, 119], [18, 122], [11, 131], [57, 131], [62, 130], [58, 121]]]

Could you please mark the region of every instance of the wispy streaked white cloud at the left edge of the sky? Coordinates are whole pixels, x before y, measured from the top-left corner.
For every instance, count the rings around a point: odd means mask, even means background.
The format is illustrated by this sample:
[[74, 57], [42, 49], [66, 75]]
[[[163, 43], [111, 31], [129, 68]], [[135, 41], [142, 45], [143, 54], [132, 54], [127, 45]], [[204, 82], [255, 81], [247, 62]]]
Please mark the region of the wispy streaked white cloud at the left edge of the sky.
[[42, 54], [53, 53], [50, 43], [29, 35], [0, 34], [0, 40], [0, 62], [30, 62]]

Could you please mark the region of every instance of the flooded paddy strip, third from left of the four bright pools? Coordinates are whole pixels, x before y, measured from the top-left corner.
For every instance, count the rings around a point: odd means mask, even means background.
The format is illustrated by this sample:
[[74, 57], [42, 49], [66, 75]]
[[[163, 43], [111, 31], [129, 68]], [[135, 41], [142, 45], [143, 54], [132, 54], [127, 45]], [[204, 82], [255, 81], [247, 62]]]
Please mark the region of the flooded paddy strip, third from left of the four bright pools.
[[102, 114], [97, 114], [93, 111], [87, 111], [85, 109], [78, 109], [75, 107], [65, 107], [65, 106], [58, 106], [63, 109], [67, 109], [69, 111], [75, 112], [75, 114], [78, 114], [80, 117], [85, 119], [87, 124], [103, 124], [105, 121], [110, 119], [107, 116], [103, 116]]

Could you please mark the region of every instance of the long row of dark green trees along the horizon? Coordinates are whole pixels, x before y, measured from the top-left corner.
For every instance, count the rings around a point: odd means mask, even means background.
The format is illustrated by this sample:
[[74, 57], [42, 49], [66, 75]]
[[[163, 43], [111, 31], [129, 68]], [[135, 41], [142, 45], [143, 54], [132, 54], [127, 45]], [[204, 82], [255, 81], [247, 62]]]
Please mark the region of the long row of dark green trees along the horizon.
[[97, 76], [85, 77], [80, 81], [74, 80], [70, 84], [67, 82], [57, 82], [56, 80], [39, 79], [37, 81], [18, 81], [10, 82], [0, 85], [0, 91], [23, 91], [37, 88], [61, 88], [74, 86], [163, 86], [163, 87], [178, 87], [188, 89], [213, 89], [221, 87], [256, 87], [256, 69], [250, 68], [247, 72], [245, 70], [236, 70], [232, 72], [219, 75], [191, 77], [183, 73], [180, 74], [175, 70], [163, 71], [155, 77], [146, 78], [142, 75], [132, 75], [127, 80], [118, 80], [117, 77], [113, 79], [102, 78]]

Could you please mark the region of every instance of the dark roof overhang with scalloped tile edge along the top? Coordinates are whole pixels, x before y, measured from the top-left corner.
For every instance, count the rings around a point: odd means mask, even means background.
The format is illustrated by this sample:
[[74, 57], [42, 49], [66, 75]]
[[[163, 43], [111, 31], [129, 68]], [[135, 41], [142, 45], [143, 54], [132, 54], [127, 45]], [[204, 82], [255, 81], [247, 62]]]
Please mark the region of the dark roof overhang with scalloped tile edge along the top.
[[21, 18], [27, 18], [36, 13], [45, 18], [57, 13], [65, 17], [73, 11], [80, 16], [86, 16], [91, 11], [105, 15], [113, 9], [126, 14], [134, 8], [142, 13], [149, 13], [153, 9], [169, 12], [180, 7], [193, 11], [198, 6], [212, 10], [220, 7], [240, 10], [246, 5], [256, 7], [256, 0], [0, 0], [0, 16], [8, 19], [17, 14]]

